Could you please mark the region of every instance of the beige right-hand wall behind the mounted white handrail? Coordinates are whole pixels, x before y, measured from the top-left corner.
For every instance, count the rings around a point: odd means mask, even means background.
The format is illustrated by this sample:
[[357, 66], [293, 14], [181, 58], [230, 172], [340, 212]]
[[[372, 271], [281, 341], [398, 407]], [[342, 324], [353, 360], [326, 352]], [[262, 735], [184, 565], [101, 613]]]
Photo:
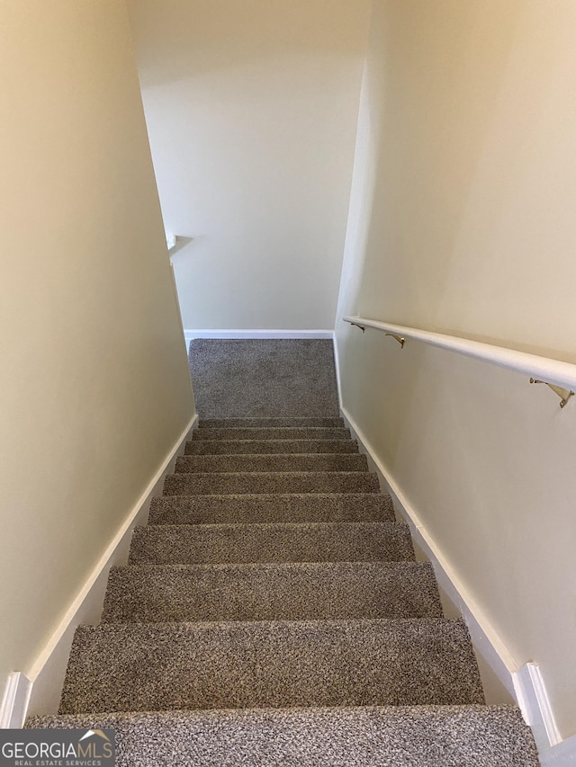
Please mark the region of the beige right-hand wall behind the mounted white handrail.
[[[576, 361], [576, 5], [375, 0], [339, 314]], [[338, 327], [344, 405], [576, 733], [576, 406]]]

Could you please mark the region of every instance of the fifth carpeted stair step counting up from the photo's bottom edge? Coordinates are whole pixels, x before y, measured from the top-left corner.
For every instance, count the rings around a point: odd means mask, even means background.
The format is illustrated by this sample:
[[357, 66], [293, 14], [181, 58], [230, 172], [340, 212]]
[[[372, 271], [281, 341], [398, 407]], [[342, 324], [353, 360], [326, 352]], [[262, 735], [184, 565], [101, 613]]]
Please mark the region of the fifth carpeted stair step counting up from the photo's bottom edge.
[[152, 498], [148, 524], [230, 522], [394, 522], [390, 495], [164, 495]]

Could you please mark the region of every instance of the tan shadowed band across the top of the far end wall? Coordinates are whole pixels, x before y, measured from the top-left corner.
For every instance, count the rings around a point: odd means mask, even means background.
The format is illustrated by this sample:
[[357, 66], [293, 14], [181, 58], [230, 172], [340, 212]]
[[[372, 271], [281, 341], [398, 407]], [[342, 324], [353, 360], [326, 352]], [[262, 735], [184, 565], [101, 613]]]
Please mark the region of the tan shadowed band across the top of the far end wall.
[[[358, 27], [358, 9], [342, 0], [170, 0], [161, 13], [155, 0], [128, 5], [134, 35], [147, 51], [139, 62], [143, 88], [188, 79], [190, 73], [229, 76], [227, 70], [239, 66], [260, 68], [266, 58], [356, 57], [363, 42], [350, 34]], [[330, 17], [338, 25], [327, 25]]]

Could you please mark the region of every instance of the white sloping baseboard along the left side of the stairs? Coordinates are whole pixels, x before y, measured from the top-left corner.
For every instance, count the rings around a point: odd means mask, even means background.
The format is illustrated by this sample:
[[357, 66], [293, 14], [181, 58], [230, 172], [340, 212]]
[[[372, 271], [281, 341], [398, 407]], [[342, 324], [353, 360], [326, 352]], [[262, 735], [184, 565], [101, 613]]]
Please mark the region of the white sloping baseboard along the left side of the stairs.
[[197, 422], [196, 414], [175, 441], [174, 447], [168, 451], [156, 474], [130, 509], [103, 556], [76, 593], [57, 629], [32, 664], [29, 678], [20, 673], [10, 674], [0, 708], [0, 722], [11, 722], [10, 727], [22, 727], [27, 716], [54, 714], [58, 711], [67, 658], [76, 627], [82, 623], [97, 624], [100, 621], [108, 571], [112, 565], [123, 565], [127, 562], [132, 531], [137, 525], [148, 522], [150, 501], [162, 494], [164, 478], [166, 474], [174, 471], [175, 459], [183, 454], [185, 442]]

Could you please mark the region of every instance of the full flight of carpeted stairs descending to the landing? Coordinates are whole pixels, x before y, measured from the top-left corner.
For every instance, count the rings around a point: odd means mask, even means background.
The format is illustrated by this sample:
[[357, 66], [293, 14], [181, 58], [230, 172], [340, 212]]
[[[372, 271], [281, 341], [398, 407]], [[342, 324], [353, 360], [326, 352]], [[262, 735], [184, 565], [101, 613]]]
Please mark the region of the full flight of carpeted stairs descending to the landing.
[[164, 494], [27, 727], [113, 727], [121, 767], [538, 764], [340, 419], [204, 421]]

